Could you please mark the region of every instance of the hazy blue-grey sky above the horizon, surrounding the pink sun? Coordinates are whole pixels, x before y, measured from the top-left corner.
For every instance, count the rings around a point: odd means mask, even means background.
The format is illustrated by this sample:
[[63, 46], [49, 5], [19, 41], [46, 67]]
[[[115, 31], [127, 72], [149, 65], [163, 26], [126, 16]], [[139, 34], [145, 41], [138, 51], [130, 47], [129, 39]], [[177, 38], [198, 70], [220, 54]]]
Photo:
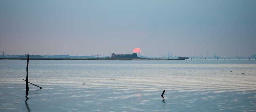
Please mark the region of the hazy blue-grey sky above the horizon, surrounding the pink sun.
[[[0, 0], [5, 54], [256, 54], [256, 0]], [[2, 53], [2, 52], [1, 52]]]

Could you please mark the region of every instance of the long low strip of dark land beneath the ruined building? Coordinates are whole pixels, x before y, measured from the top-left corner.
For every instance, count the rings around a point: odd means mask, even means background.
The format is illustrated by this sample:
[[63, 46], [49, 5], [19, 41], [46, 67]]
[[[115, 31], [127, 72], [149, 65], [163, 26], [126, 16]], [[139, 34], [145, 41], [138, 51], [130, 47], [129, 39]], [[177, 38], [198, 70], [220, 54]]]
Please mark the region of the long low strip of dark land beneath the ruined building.
[[[27, 60], [27, 58], [0, 58], [0, 60]], [[185, 60], [153, 58], [29, 58], [29, 60]]]

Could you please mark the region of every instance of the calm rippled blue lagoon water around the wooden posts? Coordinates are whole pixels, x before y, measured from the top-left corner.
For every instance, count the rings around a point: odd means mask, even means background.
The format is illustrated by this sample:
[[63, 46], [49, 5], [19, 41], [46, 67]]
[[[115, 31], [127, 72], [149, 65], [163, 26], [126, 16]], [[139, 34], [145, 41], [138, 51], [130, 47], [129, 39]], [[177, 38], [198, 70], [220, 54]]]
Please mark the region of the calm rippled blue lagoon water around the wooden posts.
[[28, 96], [26, 61], [0, 60], [1, 112], [256, 111], [252, 59], [29, 60]]

